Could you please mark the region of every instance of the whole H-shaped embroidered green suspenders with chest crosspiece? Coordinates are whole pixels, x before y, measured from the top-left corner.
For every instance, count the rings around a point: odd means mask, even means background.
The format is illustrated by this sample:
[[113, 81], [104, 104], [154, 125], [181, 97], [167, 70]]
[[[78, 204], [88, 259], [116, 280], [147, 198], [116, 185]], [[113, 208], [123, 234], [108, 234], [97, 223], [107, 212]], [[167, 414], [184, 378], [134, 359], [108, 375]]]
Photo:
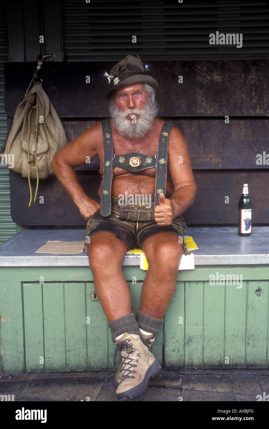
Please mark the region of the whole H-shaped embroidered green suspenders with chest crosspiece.
[[[109, 119], [101, 121], [101, 126], [103, 130], [103, 147], [104, 147], [104, 171], [103, 171], [103, 184], [101, 189], [101, 215], [106, 217], [111, 213], [111, 188], [112, 188], [112, 178], [113, 178], [113, 166], [121, 166], [122, 168], [127, 168], [131, 171], [139, 171], [145, 168], [152, 167], [154, 165], [155, 156], [148, 155], [145, 157], [143, 154], [137, 154], [132, 152], [126, 155], [117, 155], [117, 160], [113, 160], [113, 141], [112, 141], [112, 130]], [[168, 149], [168, 138], [169, 134], [174, 127], [173, 124], [165, 122], [163, 124], [162, 131], [160, 133], [157, 161], [155, 166], [156, 170], [156, 181], [155, 181], [155, 199], [154, 206], [159, 202], [159, 193], [163, 192], [165, 194], [166, 190], [166, 173], [167, 173], [167, 149]], [[144, 162], [141, 162], [139, 159], [141, 155], [144, 158]], [[127, 165], [128, 158], [129, 165]], [[148, 158], [148, 160], [147, 160]], [[147, 165], [148, 163], [148, 165]], [[125, 165], [126, 164], [126, 165]]]

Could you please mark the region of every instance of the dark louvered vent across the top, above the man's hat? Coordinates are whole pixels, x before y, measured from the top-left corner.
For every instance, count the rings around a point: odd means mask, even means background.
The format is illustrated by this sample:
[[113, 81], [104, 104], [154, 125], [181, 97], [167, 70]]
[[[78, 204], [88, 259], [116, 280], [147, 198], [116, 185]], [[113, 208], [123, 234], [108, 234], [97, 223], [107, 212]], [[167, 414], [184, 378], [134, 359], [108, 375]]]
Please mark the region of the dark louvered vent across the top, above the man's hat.
[[[65, 60], [269, 59], [269, 2], [65, 0]], [[242, 48], [209, 34], [242, 33]], [[132, 42], [136, 36], [136, 43]]]

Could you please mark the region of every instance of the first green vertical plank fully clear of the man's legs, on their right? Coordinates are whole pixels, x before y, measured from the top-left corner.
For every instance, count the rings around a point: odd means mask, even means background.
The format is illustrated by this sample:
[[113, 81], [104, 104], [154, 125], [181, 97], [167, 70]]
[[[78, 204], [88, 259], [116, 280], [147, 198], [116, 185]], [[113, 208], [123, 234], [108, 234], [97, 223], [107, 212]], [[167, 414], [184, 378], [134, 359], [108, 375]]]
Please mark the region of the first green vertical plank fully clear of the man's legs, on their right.
[[185, 282], [185, 368], [203, 368], [203, 281]]

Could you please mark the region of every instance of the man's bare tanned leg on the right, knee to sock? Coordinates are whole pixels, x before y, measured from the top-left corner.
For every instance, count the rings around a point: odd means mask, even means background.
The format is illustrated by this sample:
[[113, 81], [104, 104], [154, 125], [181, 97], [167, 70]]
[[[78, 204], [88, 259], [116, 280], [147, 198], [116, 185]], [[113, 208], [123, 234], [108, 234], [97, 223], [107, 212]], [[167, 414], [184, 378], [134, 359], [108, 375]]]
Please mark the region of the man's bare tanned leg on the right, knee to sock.
[[173, 233], [159, 233], [143, 243], [148, 272], [142, 287], [140, 311], [162, 319], [175, 292], [183, 245]]

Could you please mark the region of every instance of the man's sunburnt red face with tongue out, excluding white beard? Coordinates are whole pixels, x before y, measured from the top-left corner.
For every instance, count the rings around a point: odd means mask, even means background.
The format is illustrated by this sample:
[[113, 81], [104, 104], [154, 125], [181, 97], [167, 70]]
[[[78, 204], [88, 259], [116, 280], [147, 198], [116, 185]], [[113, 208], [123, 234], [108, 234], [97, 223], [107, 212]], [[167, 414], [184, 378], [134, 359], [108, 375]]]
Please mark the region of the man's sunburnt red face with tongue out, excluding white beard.
[[[148, 102], [148, 93], [145, 90], [144, 84], [137, 83], [134, 85], [125, 86], [115, 91], [114, 95], [115, 106], [123, 112], [127, 110], [140, 110]], [[132, 121], [139, 118], [137, 113], [129, 113], [127, 119]]]

